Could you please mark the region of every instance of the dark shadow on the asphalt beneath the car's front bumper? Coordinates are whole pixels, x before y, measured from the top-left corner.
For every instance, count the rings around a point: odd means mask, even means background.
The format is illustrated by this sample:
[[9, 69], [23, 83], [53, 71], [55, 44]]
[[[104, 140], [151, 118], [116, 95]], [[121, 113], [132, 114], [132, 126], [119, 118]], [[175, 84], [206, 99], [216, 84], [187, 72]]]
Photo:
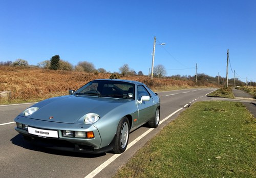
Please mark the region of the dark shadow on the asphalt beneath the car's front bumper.
[[25, 149], [44, 152], [44, 153], [48, 153], [48, 154], [62, 155], [62, 156], [66, 156], [66, 157], [97, 158], [97, 157], [102, 157], [102, 156], [106, 155], [106, 153], [89, 154], [89, 153], [70, 152], [70, 151], [62, 151], [62, 150], [55, 150], [55, 149], [40, 147], [40, 146], [32, 144], [29, 141], [24, 140], [23, 136], [20, 133], [18, 135], [16, 135], [15, 137], [13, 137], [10, 141], [12, 142], [12, 144], [23, 147]]

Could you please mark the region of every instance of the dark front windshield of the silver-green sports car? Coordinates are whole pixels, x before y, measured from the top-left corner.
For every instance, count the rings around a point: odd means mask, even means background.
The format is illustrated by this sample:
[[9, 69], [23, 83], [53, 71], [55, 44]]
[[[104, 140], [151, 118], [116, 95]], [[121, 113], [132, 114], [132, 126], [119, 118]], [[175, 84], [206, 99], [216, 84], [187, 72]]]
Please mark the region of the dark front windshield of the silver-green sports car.
[[74, 95], [134, 99], [134, 88], [134, 84], [128, 82], [95, 80], [79, 88]]

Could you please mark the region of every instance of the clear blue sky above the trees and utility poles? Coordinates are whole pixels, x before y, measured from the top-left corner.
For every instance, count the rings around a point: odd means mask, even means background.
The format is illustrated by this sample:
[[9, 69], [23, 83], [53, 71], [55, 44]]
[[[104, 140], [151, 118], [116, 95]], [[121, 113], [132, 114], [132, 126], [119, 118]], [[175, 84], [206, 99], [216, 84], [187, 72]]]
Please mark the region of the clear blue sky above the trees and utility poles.
[[[256, 1], [3, 1], [0, 61], [29, 64], [59, 55], [76, 65], [119, 72], [129, 64], [147, 75], [152, 64], [167, 75], [226, 76], [256, 81]], [[192, 69], [191, 69], [192, 68]]]

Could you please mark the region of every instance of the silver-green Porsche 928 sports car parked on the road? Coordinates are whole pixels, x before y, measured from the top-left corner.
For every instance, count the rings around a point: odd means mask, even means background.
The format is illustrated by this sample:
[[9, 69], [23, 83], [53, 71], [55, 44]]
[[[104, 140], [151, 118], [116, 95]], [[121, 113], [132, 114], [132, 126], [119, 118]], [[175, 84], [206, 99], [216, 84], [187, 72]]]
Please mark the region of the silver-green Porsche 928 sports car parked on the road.
[[141, 82], [99, 79], [69, 93], [24, 110], [14, 119], [15, 130], [47, 148], [122, 153], [131, 131], [158, 126], [159, 97]]

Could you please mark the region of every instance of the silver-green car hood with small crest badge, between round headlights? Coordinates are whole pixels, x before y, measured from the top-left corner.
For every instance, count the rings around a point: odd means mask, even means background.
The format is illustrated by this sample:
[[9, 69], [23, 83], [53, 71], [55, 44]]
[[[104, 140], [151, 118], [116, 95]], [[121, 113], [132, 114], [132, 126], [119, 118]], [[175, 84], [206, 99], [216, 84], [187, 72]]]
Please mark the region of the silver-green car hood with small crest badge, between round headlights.
[[100, 117], [115, 107], [129, 100], [116, 98], [102, 98], [91, 96], [63, 96], [45, 100], [35, 104], [39, 109], [29, 116], [31, 119], [75, 123], [88, 113], [96, 113]]

